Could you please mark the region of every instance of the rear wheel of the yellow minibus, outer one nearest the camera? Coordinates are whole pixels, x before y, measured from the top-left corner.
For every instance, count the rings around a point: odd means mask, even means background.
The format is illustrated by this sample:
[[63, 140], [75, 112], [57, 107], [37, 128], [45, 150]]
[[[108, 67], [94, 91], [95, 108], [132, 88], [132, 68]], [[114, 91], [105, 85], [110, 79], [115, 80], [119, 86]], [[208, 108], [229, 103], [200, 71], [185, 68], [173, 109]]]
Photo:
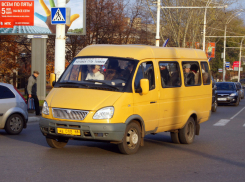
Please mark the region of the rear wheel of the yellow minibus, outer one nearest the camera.
[[195, 138], [196, 125], [192, 117], [190, 117], [184, 128], [179, 131], [179, 139], [183, 144], [191, 144]]

